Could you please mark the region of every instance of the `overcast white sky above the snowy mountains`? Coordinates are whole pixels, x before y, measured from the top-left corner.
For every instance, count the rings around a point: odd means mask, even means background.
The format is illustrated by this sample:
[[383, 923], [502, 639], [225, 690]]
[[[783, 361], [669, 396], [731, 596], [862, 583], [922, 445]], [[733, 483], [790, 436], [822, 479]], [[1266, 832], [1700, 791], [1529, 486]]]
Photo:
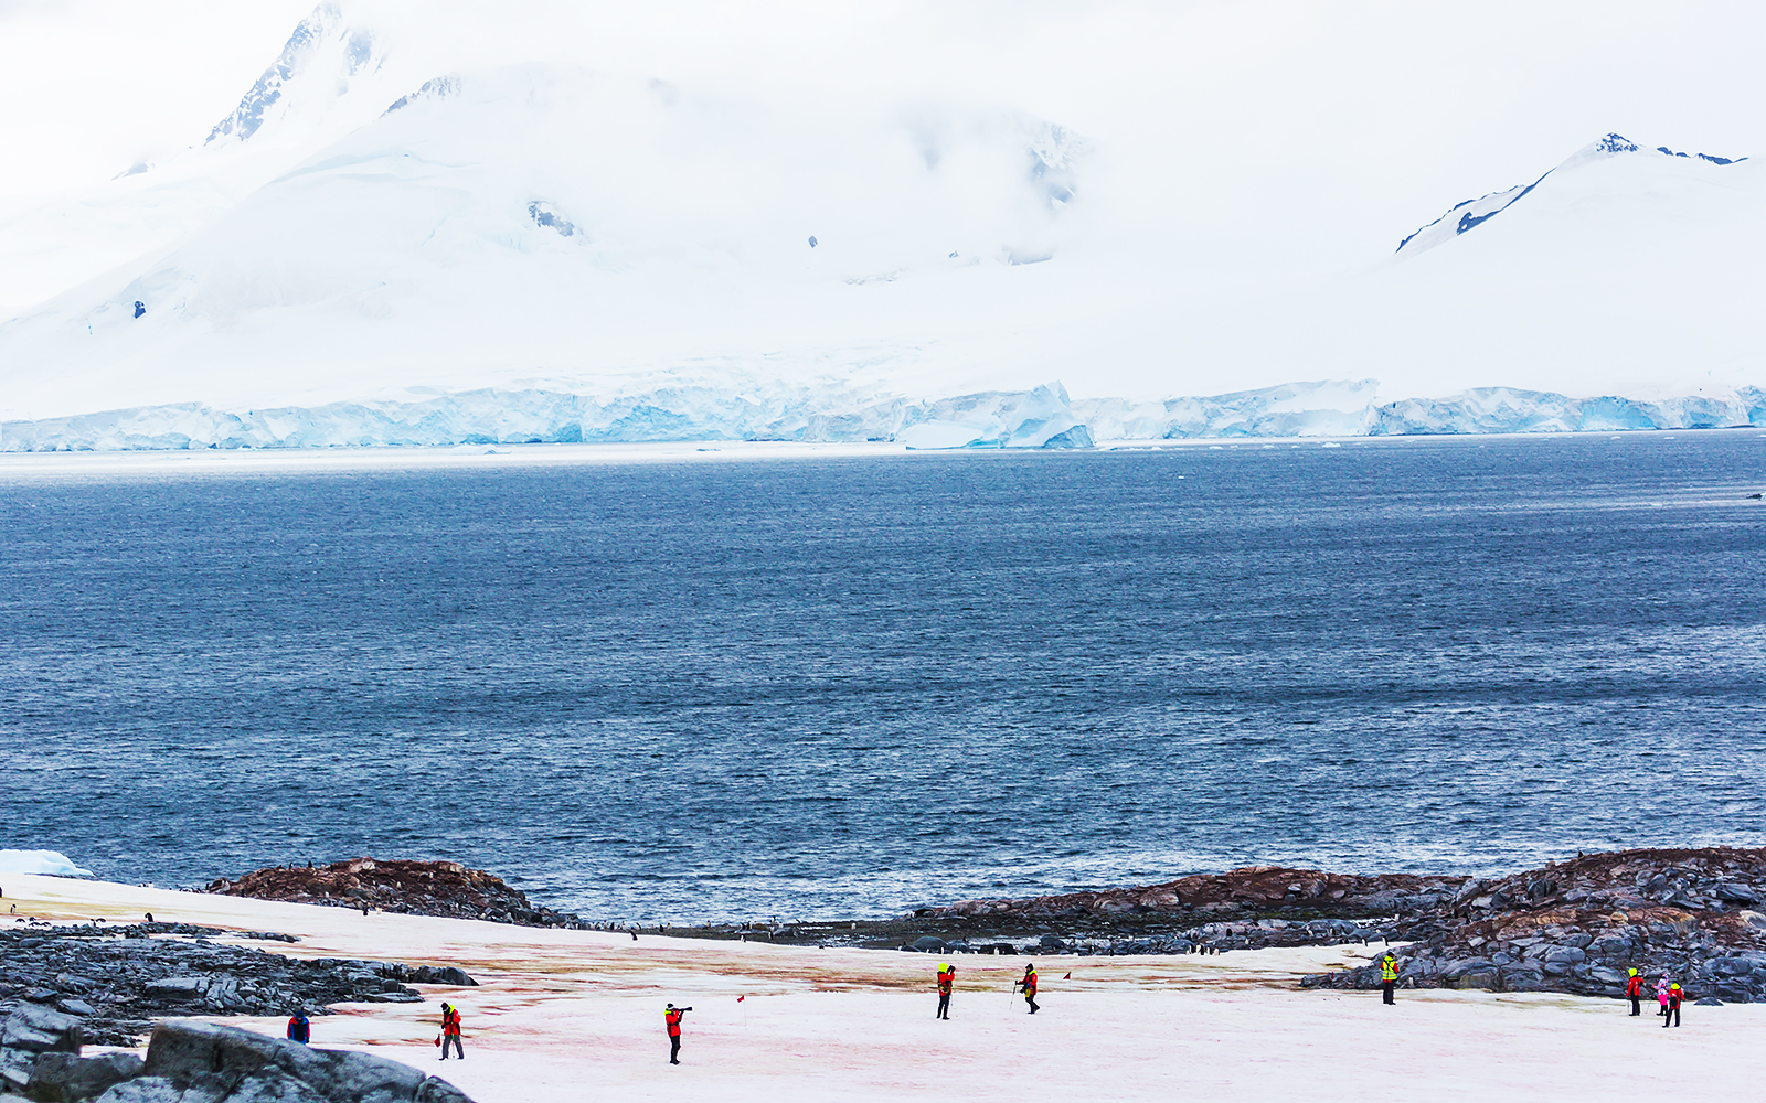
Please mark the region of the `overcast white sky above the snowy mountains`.
[[[311, 7], [0, 0], [0, 196], [200, 141]], [[569, 55], [763, 95], [996, 101], [1107, 143], [1148, 189], [1187, 194], [1169, 173], [1211, 175], [1197, 198], [1236, 192], [1243, 212], [1342, 201], [1358, 219], [1360, 196], [1415, 222], [1605, 131], [1766, 152], [1766, 5], [1750, 2], [373, 7], [420, 23], [438, 64]]]

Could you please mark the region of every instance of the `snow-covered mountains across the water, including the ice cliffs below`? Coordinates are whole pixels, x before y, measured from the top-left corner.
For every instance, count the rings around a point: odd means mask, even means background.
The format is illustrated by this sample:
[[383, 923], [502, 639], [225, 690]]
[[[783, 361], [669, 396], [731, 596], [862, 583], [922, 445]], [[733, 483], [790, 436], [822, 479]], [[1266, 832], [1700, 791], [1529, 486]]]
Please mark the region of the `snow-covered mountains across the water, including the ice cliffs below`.
[[1383, 263], [1229, 284], [1137, 252], [1109, 150], [1060, 120], [436, 67], [380, 18], [323, 4], [191, 150], [0, 222], [0, 302], [30, 302], [0, 448], [1757, 416], [1757, 161], [1609, 134]]

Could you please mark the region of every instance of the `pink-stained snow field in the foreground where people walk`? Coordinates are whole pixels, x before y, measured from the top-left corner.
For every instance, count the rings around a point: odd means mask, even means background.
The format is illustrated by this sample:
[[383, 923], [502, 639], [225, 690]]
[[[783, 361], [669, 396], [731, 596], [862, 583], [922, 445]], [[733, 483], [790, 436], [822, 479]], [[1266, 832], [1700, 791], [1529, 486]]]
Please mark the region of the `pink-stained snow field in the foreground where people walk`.
[[[1664, 1031], [1619, 1001], [1482, 992], [1300, 992], [1351, 948], [1180, 958], [1040, 958], [1044, 1011], [1010, 981], [1024, 958], [957, 957], [952, 1020], [938, 958], [796, 949], [0, 877], [19, 912], [281, 930], [302, 957], [457, 964], [479, 988], [355, 1004], [314, 1045], [367, 1047], [480, 1103], [600, 1099], [1582, 1099], [1755, 1098], [1766, 1008], [1685, 1009]], [[1353, 948], [1360, 953], [1370, 949]], [[1063, 979], [1072, 972], [1072, 979]], [[738, 995], [747, 999], [736, 1001]], [[466, 1061], [433, 1045], [438, 1001], [464, 1013]], [[662, 1004], [692, 1006], [668, 1064]], [[281, 1034], [281, 1020], [231, 1020]]]

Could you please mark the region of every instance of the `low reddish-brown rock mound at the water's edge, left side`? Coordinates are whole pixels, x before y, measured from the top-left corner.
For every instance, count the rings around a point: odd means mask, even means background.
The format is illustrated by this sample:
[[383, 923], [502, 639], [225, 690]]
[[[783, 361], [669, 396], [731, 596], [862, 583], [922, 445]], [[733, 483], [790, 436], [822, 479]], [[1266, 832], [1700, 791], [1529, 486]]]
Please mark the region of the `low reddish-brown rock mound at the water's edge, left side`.
[[376, 861], [355, 858], [321, 867], [270, 867], [237, 881], [223, 877], [205, 891], [253, 900], [373, 907], [411, 916], [489, 919], [517, 927], [583, 928], [579, 918], [537, 907], [502, 877], [457, 861]]

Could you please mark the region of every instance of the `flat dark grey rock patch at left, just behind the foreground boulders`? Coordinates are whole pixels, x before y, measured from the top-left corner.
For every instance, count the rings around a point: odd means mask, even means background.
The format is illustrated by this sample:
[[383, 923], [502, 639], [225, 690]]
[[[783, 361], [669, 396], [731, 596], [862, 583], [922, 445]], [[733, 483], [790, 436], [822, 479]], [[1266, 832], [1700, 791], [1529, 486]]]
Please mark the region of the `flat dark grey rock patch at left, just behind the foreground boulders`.
[[76, 1017], [88, 1043], [131, 1047], [161, 1015], [328, 1015], [337, 1002], [422, 1002], [410, 983], [475, 983], [450, 965], [302, 960], [207, 941], [221, 934], [182, 923], [0, 930], [0, 1015], [51, 1009]]

